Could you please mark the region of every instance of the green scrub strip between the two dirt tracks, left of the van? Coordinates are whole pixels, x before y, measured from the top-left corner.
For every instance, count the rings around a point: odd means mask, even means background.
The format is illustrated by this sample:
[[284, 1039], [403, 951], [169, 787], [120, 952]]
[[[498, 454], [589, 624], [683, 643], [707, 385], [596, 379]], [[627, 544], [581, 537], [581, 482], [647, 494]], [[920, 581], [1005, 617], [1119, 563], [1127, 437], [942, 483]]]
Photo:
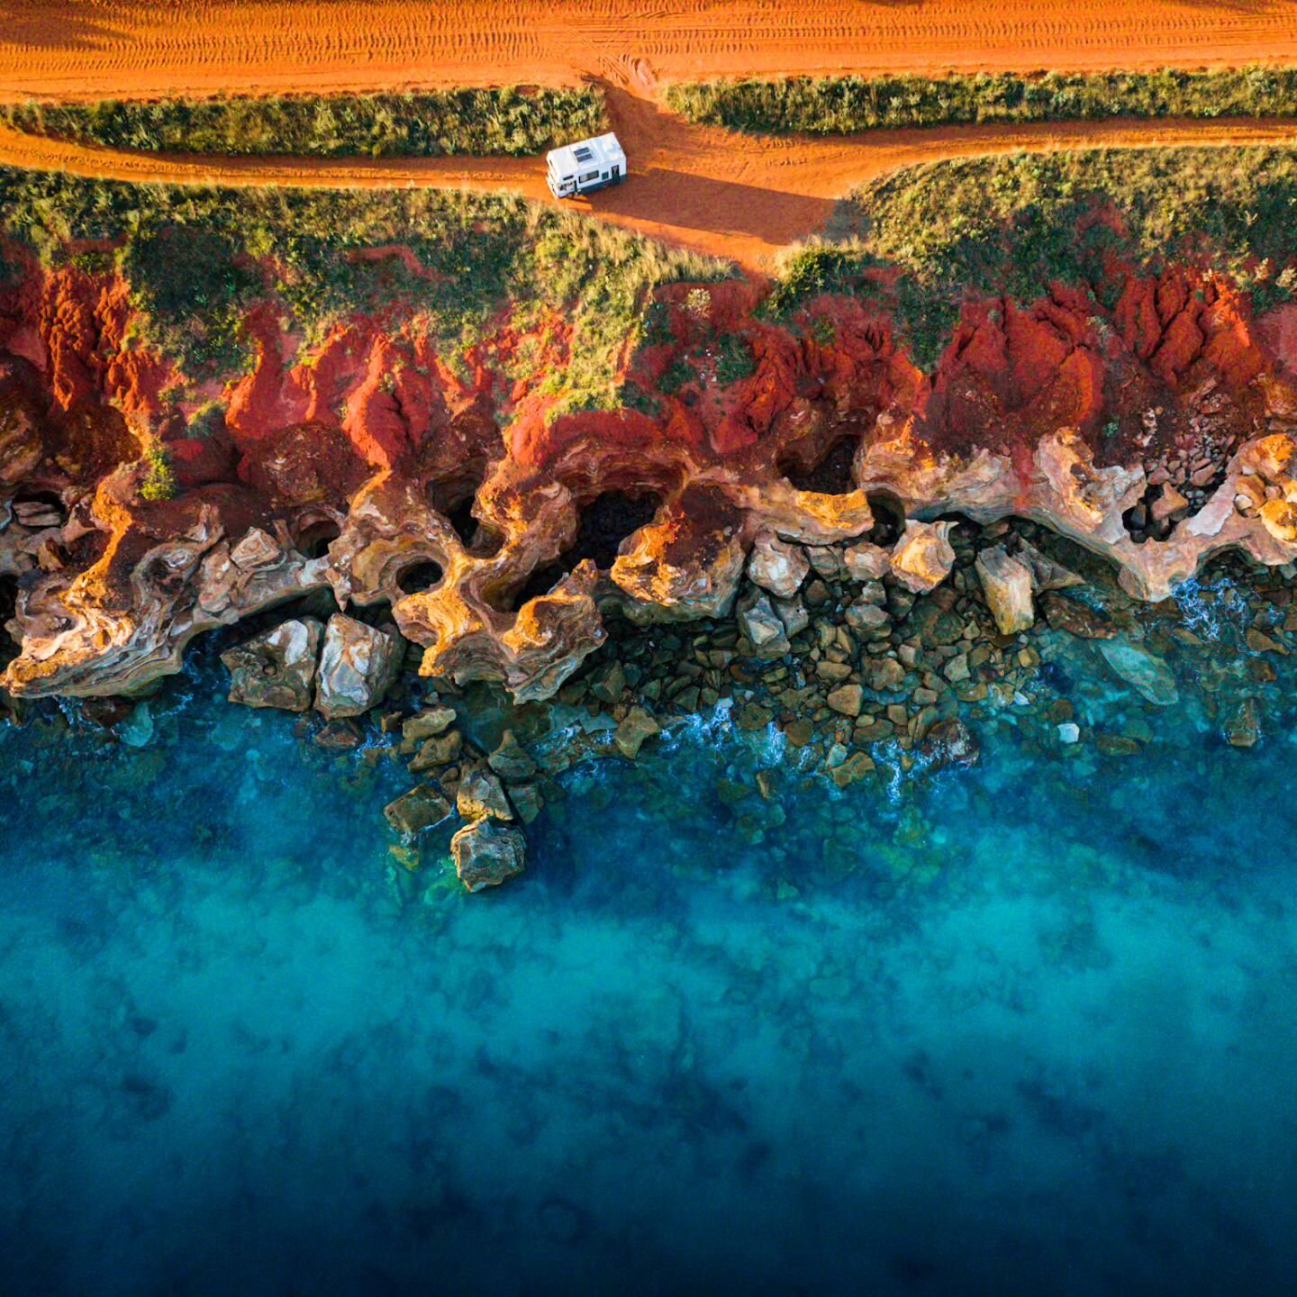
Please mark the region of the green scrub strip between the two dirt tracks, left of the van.
[[527, 156], [606, 130], [603, 97], [589, 86], [96, 104], [29, 100], [0, 106], [0, 114], [32, 134], [162, 153]]

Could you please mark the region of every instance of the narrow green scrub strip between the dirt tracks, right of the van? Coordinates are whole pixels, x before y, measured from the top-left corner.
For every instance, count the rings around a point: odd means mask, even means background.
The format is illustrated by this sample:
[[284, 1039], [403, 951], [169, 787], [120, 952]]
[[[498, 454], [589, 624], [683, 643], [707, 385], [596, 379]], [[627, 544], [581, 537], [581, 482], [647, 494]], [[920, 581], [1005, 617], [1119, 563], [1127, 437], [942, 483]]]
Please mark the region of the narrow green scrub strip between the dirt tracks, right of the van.
[[1297, 69], [792, 77], [672, 86], [667, 102], [695, 122], [776, 135], [1112, 117], [1283, 117], [1297, 113]]

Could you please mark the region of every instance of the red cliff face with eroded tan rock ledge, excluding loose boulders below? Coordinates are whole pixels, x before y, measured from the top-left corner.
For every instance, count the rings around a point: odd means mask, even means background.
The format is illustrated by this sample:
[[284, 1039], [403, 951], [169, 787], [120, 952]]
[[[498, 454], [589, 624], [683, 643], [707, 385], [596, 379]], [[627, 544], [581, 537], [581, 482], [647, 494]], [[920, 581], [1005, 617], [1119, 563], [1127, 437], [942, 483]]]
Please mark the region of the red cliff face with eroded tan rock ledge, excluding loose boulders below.
[[[246, 322], [254, 368], [200, 405], [132, 329], [118, 272], [27, 262], [0, 293], [0, 685], [135, 693], [196, 634], [331, 591], [389, 607], [424, 674], [543, 699], [610, 616], [722, 615], [744, 572], [765, 591], [744, 633], [777, 651], [817, 547], [860, 542], [831, 562], [868, 580], [879, 528], [892, 575], [933, 589], [956, 514], [1035, 520], [1154, 601], [1222, 550], [1297, 558], [1291, 309], [1258, 322], [1210, 274], [1128, 275], [1110, 310], [1062, 287], [970, 301], [931, 374], [853, 298], [789, 323], [742, 281], [645, 306], [617, 410], [553, 416], [562, 346], [506, 381], [492, 358], [525, 342], [507, 320], [466, 368], [416, 319], [306, 345], [270, 311]], [[1048, 589], [1021, 554], [982, 568], [1003, 626]]]

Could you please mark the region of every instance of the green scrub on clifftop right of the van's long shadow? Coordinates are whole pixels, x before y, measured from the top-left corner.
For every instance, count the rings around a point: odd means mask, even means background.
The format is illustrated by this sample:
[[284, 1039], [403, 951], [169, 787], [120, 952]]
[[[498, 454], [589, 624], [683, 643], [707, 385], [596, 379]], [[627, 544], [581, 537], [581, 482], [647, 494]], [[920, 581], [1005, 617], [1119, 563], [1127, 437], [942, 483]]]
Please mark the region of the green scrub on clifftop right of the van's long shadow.
[[1124, 281], [1114, 263], [1210, 266], [1265, 309], [1297, 287], [1297, 150], [1084, 149], [926, 163], [839, 204], [830, 233], [786, 258], [765, 310], [787, 319], [822, 294], [877, 300], [927, 367], [965, 297], [1031, 301], [1066, 283], [1112, 307]]

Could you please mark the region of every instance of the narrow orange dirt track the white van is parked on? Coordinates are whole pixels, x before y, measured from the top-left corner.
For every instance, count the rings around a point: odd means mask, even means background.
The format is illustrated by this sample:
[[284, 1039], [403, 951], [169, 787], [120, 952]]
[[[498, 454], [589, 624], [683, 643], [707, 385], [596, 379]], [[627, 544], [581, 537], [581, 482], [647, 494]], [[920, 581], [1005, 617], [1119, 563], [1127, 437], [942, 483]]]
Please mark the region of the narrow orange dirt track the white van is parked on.
[[[576, 202], [613, 224], [768, 272], [773, 256], [827, 219], [833, 201], [899, 166], [1016, 150], [1175, 144], [1297, 145], [1297, 122], [1106, 122], [878, 131], [833, 140], [764, 140], [699, 128], [655, 102], [611, 95], [634, 174]], [[554, 204], [530, 158], [210, 158], [131, 153], [39, 139], [0, 127], [0, 163], [128, 182], [236, 187], [464, 187]]]

